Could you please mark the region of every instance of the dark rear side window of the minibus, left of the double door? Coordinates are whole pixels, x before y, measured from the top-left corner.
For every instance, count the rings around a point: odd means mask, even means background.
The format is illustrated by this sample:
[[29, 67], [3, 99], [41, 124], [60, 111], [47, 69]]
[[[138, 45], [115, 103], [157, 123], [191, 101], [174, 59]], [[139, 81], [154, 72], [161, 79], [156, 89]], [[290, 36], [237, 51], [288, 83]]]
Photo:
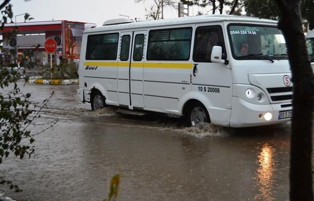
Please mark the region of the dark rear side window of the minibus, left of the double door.
[[119, 34], [97, 34], [87, 37], [86, 60], [116, 60]]

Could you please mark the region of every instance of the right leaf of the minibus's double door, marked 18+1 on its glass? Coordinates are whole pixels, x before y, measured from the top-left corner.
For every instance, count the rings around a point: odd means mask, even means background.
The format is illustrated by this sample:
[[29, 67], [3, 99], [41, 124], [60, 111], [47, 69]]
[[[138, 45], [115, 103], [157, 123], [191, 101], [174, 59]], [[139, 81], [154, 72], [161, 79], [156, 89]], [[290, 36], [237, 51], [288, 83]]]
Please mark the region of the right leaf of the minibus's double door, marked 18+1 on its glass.
[[133, 33], [133, 47], [130, 68], [130, 94], [133, 109], [144, 108], [143, 67], [146, 31]]

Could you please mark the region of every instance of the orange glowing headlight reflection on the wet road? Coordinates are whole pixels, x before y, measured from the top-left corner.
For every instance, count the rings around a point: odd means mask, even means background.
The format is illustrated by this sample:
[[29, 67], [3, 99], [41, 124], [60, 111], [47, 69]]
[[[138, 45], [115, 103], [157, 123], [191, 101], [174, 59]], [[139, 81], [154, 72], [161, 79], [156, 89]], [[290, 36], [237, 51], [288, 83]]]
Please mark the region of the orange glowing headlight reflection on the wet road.
[[273, 197], [273, 184], [275, 179], [276, 162], [274, 159], [275, 149], [264, 144], [256, 161], [259, 168], [256, 170], [256, 183], [259, 193], [255, 200], [275, 200]]

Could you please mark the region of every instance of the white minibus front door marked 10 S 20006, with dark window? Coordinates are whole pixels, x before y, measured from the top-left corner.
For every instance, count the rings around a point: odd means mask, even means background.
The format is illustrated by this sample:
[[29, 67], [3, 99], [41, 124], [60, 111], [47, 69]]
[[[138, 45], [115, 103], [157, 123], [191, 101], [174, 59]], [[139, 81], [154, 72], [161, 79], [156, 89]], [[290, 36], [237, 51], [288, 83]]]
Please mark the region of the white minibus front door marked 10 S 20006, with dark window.
[[[227, 58], [226, 34], [223, 24], [197, 25], [195, 30], [193, 68], [191, 71], [192, 91], [205, 97], [205, 107], [213, 117], [213, 123], [228, 126], [232, 103], [232, 75], [229, 65], [213, 63], [213, 46], [221, 46], [223, 59]], [[224, 37], [225, 35], [225, 37]]]

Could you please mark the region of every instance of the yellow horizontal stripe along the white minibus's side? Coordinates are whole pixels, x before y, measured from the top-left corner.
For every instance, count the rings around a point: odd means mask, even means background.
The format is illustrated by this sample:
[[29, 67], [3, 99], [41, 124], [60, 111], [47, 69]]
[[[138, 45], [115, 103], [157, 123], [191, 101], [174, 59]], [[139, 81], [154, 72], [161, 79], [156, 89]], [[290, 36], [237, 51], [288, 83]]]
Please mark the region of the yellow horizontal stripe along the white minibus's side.
[[[107, 62], [107, 61], [85, 61], [84, 66], [101, 66], [101, 67], [129, 67], [130, 62]], [[190, 69], [193, 67], [192, 63], [163, 63], [163, 62], [132, 62], [133, 68], [176, 68], [176, 69]]]

